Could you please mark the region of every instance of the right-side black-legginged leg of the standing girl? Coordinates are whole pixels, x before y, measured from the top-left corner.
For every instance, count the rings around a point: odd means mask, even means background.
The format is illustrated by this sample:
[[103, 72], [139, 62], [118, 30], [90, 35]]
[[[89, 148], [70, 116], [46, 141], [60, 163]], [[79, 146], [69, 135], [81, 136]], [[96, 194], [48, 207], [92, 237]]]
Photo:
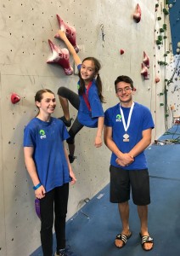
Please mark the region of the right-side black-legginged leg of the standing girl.
[[57, 240], [57, 252], [65, 248], [65, 218], [69, 196], [69, 183], [55, 189], [54, 198], [54, 229]]

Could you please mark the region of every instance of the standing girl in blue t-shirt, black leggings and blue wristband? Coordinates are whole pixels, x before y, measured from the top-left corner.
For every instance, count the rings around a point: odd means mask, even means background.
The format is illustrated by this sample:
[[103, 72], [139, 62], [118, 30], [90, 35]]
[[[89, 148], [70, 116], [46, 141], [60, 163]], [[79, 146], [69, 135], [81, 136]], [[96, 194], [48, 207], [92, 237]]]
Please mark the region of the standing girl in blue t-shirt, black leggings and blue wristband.
[[[53, 212], [57, 255], [65, 254], [65, 218], [69, 182], [76, 183], [64, 140], [69, 137], [64, 123], [51, 117], [56, 102], [51, 90], [38, 90], [35, 102], [39, 112], [25, 127], [25, 166], [35, 195], [40, 201], [41, 241], [44, 256], [53, 255]], [[65, 254], [66, 255], [66, 254]]]

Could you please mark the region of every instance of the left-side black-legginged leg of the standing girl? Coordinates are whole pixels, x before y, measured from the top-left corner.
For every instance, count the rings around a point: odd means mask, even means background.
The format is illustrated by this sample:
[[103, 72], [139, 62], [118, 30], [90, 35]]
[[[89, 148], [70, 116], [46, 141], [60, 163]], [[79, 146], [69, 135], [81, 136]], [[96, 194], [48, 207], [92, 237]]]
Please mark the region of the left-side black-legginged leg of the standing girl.
[[53, 255], [53, 197], [54, 189], [40, 200], [43, 256]]

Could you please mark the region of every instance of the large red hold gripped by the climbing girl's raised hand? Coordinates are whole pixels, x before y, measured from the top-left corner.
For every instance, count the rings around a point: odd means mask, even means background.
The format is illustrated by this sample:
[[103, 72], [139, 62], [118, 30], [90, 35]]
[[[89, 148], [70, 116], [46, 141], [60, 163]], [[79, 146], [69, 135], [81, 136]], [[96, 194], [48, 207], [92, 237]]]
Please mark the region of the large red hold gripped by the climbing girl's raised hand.
[[[64, 20], [62, 20], [59, 15], [56, 15], [58, 22], [59, 22], [59, 28], [63, 31], [65, 31], [66, 37], [70, 41], [70, 44], [74, 47], [76, 50], [76, 53], [79, 51], [79, 47], [76, 44], [76, 28], [74, 26], [69, 26], [65, 23]], [[59, 34], [57, 33], [55, 35], [55, 38], [59, 38]]]

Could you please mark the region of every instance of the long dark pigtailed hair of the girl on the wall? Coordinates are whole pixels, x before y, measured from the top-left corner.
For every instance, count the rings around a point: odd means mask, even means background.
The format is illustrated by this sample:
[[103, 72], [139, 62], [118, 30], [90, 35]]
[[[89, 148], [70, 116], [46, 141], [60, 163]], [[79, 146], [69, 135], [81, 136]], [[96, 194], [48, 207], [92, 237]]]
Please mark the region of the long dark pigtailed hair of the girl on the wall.
[[[87, 57], [85, 58], [82, 63], [84, 61], [93, 61], [93, 64], [95, 66], [95, 73], [97, 73], [97, 78], [96, 78], [96, 86], [98, 88], [98, 96], [99, 96], [99, 99], [101, 102], [105, 103], [105, 100], [104, 100], [104, 96], [102, 95], [102, 90], [103, 90], [103, 84], [102, 84], [102, 81], [100, 79], [100, 76], [99, 76], [99, 73], [98, 71], [101, 69], [101, 64], [100, 62], [94, 58], [94, 57]], [[81, 71], [79, 71], [79, 78], [80, 78], [80, 86], [79, 86], [79, 90], [78, 90], [78, 93], [79, 95], [83, 95], [83, 93], [85, 92], [85, 83], [84, 83], [84, 80], [82, 79], [82, 76], [81, 76]]]

